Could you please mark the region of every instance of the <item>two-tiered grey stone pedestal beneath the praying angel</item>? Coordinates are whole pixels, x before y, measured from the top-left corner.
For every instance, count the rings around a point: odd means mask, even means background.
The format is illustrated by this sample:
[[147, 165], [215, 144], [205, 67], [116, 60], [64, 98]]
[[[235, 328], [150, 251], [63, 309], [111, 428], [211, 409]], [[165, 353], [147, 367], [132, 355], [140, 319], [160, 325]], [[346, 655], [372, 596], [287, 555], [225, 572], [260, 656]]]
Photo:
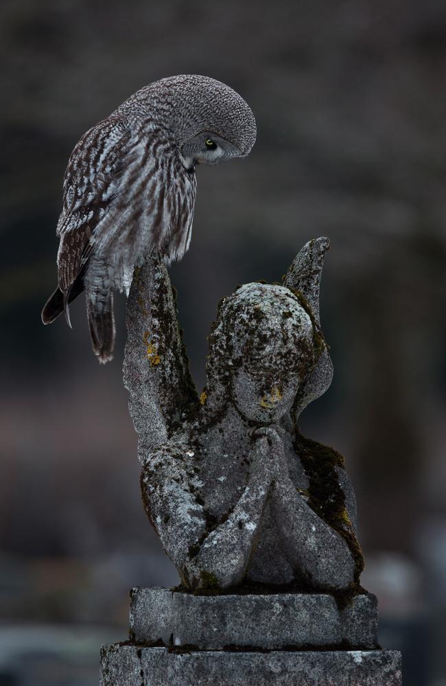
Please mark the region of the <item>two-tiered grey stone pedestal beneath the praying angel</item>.
[[377, 646], [377, 603], [324, 593], [134, 589], [130, 641], [102, 648], [101, 686], [401, 686]]

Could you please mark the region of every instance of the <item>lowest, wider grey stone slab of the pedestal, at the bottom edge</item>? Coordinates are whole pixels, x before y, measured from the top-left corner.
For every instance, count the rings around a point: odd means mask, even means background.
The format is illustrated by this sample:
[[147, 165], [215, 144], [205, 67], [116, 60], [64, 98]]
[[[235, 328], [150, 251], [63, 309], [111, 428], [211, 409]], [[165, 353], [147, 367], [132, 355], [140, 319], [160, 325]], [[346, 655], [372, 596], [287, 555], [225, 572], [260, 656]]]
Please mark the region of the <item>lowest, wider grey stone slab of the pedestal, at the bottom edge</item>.
[[214, 652], [104, 646], [101, 686], [401, 686], [392, 650]]

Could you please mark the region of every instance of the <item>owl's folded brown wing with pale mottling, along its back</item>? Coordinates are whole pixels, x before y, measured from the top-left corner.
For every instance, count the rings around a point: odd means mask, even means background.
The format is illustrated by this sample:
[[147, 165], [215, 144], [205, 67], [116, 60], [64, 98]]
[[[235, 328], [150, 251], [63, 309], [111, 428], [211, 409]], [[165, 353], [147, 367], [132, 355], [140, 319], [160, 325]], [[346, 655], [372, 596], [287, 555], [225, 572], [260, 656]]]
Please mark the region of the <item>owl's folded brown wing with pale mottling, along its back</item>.
[[97, 226], [119, 196], [129, 162], [132, 134], [125, 117], [99, 121], [75, 145], [64, 175], [63, 209], [56, 233], [59, 287], [67, 300], [97, 241]]

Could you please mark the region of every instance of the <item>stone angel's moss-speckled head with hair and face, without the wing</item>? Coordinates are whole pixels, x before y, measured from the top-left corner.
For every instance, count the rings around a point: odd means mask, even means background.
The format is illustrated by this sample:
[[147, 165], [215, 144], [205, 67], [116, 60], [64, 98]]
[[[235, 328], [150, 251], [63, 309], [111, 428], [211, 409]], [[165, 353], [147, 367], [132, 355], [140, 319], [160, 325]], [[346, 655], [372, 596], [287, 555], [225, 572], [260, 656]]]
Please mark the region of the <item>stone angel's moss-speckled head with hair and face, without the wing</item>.
[[208, 372], [230, 377], [230, 400], [248, 421], [277, 423], [314, 368], [313, 334], [309, 314], [289, 289], [244, 285], [222, 303]]

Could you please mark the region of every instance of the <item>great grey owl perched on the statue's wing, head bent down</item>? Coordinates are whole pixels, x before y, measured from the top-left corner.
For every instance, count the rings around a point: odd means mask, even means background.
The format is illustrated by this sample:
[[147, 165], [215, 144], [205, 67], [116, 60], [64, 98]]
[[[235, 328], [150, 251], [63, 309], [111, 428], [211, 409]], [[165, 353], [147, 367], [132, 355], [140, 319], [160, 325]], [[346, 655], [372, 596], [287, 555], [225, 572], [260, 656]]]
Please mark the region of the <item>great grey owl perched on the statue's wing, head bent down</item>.
[[75, 145], [56, 233], [58, 287], [44, 324], [83, 290], [99, 362], [115, 345], [113, 290], [128, 294], [134, 267], [156, 248], [167, 261], [189, 247], [197, 164], [246, 156], [256, 137], [244, 99], [207, 76], [156, 81], [131, 95]]

